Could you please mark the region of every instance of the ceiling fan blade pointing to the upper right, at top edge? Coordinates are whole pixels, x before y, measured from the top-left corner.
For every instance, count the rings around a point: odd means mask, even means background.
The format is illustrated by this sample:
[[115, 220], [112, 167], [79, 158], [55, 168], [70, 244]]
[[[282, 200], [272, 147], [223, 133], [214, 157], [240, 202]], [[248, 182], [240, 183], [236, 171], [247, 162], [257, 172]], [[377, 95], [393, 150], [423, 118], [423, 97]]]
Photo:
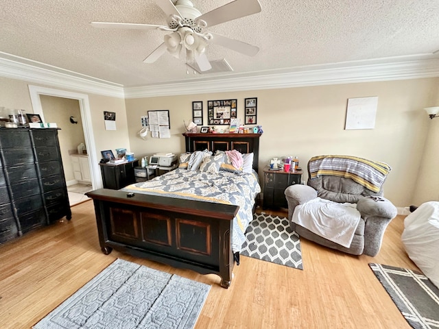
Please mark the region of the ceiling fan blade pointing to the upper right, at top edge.
[[258, 12], [261, 12], [261, 10], [261, 4], [258, 0], [235, 0], [198, 16], [195, 21], [202, 19], [209, 27], [233, 21], [234, 19], [239, 19], [244, 16], [257, 14]]

